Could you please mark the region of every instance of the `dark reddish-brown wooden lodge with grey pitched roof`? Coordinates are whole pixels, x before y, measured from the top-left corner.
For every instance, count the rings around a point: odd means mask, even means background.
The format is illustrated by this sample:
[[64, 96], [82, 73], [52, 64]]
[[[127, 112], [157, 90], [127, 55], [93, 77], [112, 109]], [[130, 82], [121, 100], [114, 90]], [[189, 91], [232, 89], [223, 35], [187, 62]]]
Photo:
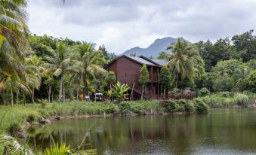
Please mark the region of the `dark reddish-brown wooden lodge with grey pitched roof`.
[[148, 59], [145, 56], [119, 56], [113, 59], [106, 65], [108, 71], [113, 71], [116, 74], [116, 81], [122, 84], [128, 84], [130, 87], [129, 93], [132, 93], [132, 99], [140, 99], [142, 93], [142, 87], [138, 83], [140, 77], [140, 68], [143, 64], [147, 65], [147, 69], [150, 73], [150, 78], [147, 86], [145, 87], [143, 97], [147, 99], [159, 99], [160, 84], [159, 84], [159, 72], [162, 65], [167, 63], [166, 59]]

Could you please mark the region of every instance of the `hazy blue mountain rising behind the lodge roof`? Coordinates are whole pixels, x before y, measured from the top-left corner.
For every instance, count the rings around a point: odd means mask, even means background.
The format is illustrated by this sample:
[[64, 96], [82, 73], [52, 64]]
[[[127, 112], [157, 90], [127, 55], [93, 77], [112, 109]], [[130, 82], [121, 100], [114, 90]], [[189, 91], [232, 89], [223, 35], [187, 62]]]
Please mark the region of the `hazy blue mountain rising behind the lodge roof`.
[[177, 40], [177, 38], [171, 38], [171, 37], [166, 37], [166, 38], [161, 38], [161, 39], [156, 39], [156, 41], [153, 42], [153, 44], [150, 44], [149, 47], [147, 48], [140, 48], [140, 47], [134, 47], [131, 48], [130, 50], [126, 50], [123, 54], [130, 56], [130, 55], [136, 55], [136, 56], [153, 56], [153, 58], [157, 58], [160, 52], [165, 51], [166, 47], [168, 47], [169, 44], [174, 43]]

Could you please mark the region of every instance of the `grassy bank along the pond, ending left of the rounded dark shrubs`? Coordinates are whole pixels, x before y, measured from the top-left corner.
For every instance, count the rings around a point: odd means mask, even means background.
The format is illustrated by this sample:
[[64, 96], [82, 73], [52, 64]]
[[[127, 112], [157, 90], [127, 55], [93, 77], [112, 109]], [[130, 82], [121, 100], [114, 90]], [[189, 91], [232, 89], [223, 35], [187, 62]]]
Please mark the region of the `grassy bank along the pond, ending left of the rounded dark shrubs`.
[[38, 121], [41, 117], [115, 115], [115, 114], [160, 114], [164, 111], [158, 101], [122, 102], [119, 105], [109, 102], [63, 102], [52, 104], [28, 104], [0, 106], [0, 132], [24, 127], [26, 122]]

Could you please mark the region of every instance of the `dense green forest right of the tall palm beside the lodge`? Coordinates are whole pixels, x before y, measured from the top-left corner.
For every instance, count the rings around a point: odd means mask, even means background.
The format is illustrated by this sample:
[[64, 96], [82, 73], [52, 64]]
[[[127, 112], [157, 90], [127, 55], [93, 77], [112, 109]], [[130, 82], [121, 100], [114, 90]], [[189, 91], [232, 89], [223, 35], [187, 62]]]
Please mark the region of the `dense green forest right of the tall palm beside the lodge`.
[[[253, 35], [253, 30], [234, 35], [231, 39], [220, 38], [215, 43], [209, 40], [199, 41], [190, 46], [198, 50], [204, 62], [204, 71], [201, 71], [200, 76], [192, 73], [183, 78], [177, 88], [190, 87], [196, 92], [204, 88], [203, 90], [211, 92], [248, 90], [255, 93], [256, 36]], [[183, 56], [186, 55], [189, 56]], [[160, 53], [159, 59], [163, 58], [170, 57]]]

